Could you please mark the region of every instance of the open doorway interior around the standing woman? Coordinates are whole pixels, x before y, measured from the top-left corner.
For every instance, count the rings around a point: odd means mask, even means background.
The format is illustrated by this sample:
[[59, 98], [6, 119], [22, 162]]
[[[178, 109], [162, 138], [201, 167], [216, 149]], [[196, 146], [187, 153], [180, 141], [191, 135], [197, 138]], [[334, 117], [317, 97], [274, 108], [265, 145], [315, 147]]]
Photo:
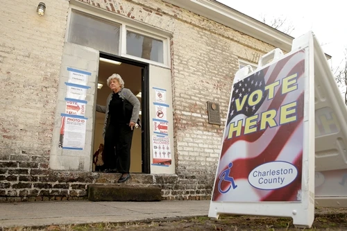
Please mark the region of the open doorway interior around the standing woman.
[[[143, 166], [143, 159], [146, 154], [144, 153], [144, 126], [142, 117], [142, 108], [144, 108], [144, 102], [142, 101], [142, 89], [144, 89], [144, 67], [139, 65], [133, 65], [130, 63], [117, 61], [115, 59], [103, 58], [101, 56], [99, 62], [99, 75], [98, 75], [98, 89], [96, 92], [96, 103], [99, 105], [105, 105], [108, 95], [111, 93], [110, 88], [107, 85], [107, 79], [112, 74], [119, 74], [124, 80], [124, 87], [130, 89], [137, 99], [140, 101], [140, 113], [139, 119], [142, 121], [142, 128], [135, 129], [133, 133], [133, 142], [130, 151], [130, 173], [146, 173], [146, 168]], [[101, 87], [102, 85], [102, 87]], [[105, 114], [96, 112], [95, 125], [94, 125], [94, 153], [98, 150], [99, 145], [103, 144], [103, 123]], [[93, 164], [93, 171], [95, 166]]]

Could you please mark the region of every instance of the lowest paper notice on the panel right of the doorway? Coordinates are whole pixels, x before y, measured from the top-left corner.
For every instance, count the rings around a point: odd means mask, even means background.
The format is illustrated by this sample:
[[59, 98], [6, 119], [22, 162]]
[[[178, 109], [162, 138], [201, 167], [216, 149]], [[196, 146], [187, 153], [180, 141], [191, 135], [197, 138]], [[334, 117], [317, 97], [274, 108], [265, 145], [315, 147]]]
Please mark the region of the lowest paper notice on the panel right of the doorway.
[[153, 164], [170, 165], [171, 164], [171, 148], [169, 137], [152, 137], [153, 146]]

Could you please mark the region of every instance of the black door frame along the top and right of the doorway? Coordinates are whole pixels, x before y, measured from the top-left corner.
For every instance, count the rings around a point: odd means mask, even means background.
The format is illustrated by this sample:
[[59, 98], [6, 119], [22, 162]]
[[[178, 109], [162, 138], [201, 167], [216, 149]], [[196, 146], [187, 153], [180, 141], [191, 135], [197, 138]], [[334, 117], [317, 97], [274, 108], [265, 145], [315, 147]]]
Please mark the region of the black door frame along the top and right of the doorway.
[[118, 55], [105, 53], [100, 51], [100, 58], [107, 58], [118, 62], [124, 62], [128, 65], [134, 65], [142, 68], [142, 173], [151, 173], [150, 165], [150, 137], [149, 137], [149, 64], [146, 62], [139, 62], [130, 58], [124, 58]]

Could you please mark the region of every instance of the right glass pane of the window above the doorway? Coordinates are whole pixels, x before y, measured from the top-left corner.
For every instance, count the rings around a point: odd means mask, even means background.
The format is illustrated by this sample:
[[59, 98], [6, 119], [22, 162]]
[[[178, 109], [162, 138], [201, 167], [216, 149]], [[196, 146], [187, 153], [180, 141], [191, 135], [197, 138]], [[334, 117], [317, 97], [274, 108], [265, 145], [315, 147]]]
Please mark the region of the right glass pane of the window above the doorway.
[[155, 40], [131, 31], [126, 31], [126, 53], [164, 63], [162, 40]]

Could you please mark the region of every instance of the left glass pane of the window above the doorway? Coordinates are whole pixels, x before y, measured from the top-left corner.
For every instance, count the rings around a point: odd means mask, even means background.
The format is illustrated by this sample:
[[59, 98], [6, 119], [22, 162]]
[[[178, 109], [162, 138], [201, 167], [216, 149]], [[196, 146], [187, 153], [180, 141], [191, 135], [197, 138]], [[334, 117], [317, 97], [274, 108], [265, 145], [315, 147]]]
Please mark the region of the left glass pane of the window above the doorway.
[[72, 12], [68, 42], [118, 55], [119, 30], [112, 22]]

